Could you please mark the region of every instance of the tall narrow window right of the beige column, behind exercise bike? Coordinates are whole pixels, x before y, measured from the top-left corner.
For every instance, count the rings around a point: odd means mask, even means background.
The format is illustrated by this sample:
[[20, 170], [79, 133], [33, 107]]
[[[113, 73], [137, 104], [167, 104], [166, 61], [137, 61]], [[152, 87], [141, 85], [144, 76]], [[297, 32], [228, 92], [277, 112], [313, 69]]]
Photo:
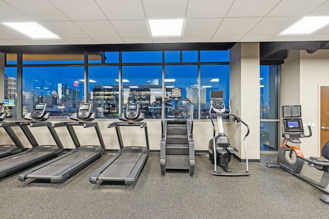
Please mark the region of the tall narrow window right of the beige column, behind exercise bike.
[[280, 66], [260, 67], [260, 149], [278, 150]]

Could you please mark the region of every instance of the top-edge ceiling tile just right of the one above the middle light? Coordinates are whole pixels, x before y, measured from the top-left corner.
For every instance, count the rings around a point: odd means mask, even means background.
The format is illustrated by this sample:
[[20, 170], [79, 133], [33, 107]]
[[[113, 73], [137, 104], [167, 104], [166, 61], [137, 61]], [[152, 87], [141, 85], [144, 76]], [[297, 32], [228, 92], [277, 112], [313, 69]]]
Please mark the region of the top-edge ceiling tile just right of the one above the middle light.
[[189, 0], [186, 17], [224, 17], [232, 3], [233, 0]]

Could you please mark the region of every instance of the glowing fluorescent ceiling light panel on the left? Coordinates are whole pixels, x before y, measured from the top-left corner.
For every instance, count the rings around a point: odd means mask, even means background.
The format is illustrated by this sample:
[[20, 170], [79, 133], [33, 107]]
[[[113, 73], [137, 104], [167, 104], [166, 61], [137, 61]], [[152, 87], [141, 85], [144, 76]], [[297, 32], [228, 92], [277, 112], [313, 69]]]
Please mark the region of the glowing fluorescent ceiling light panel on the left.
[[4, 22], [3, 25], [20, 32], [32, 39], [59, 39], [60, 37], [53, 34], [46, 28], [35, 22], [21, 22], [21, 23], [11, 23]]

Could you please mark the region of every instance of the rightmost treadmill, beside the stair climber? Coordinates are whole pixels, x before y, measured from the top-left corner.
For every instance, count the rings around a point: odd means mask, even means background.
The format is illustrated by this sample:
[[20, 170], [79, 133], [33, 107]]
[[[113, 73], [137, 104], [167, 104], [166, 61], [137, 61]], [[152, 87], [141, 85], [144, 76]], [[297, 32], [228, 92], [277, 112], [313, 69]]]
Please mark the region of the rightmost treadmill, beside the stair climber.
[[[124, 182], [125, 185], [131, 185], [136, 182], [150, 152], [147, 123], [141, 122], [144, 119], [144, 113], [138, 111], [138, 104], [127, 104], [126, 113], [121, 113], [119, 116], [119, 120], [122, 122], [107, 125], [107, 128], [116, 128], [120, 150], [89, 177], [90, 183], [109, 181]], [[147, 146], [124, 147], [120, 131], [121, 126], [144, 128]]]

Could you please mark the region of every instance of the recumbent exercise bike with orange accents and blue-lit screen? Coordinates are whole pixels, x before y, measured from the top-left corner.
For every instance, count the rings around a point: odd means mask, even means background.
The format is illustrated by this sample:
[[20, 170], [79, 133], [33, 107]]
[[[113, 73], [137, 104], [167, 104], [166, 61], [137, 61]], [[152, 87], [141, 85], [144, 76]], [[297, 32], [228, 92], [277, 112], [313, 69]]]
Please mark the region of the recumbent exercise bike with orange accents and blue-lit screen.
[[[267, 163], [266, 166], [282, 168], [322, 191], [329, 193], [329, 141], [322, 148], [321, 154], [323, 157], [304, 157], [303, 152], [299, 148], [287, 145], [288, 142], [300, 144], [300, 138], [312, 136], [310, 126], [308, 126], [309, 135], [304, 134], [301, 106], [283, 106], [282, 110], [283, 140], [278, 150], [278, 160], [276, 163]], [[315, 167], [323, 171], [320, 182], [301, 174], [304, 162], [307, 162], [310, 167]], [[322, 194], [320, 200], [329, 204], [329, 195]]]

